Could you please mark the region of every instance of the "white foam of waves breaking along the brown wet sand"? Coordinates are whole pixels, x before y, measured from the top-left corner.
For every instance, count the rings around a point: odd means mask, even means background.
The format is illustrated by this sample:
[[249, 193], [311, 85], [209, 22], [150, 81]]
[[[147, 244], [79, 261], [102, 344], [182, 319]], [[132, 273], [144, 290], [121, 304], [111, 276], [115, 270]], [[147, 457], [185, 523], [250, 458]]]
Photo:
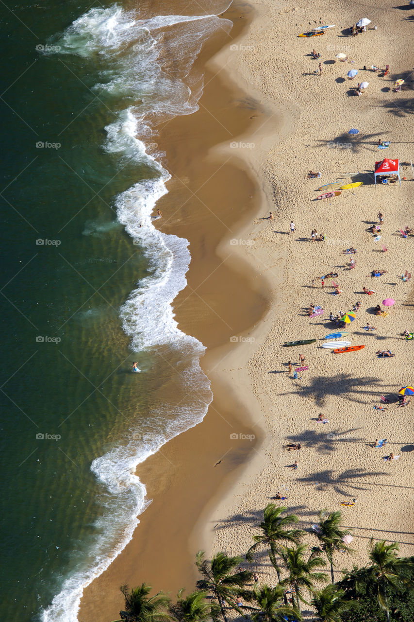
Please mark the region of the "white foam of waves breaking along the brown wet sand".
[[[216, 10], [224, 10], [226, 4], [215, 2]], [[116, 121], [105, 128], [104, 147], [121, 165], [131, 161], [150, 172], [149, 179], [116, 198], [117, 218], [143, 250], [150, 274], [122, 306], [122, 325], [134, 351], [160, 346], [177, 350], [180, 390], [188, 399], [173, 414], [170, 404], [162, 404], [150, 414], [150, 434], [140, 436], [130, 430], [128, 442], [93, 461], [91, 470], [103, 485], [103, 515], [96, 524], [93, 545], [42, 612], [44, 622], [76, 622], [84, 588], [129, 542], [139, 522], [137, 515], [149, 503], [145, 486], [135, 475], [136, 466], [169, 439], [198, 424], [212, 399], [208, 378], [200, 368], [205, 348], [178, 329], [172, 309], [173, 300], [186, 285], [188, 241], [164, 234], [152, 224], [155, 205], [168, 192], [165, 184], [170, 175], [157, 161], [160, 154], [154, 149], [147, 153], [143, 141], [151, 139], [159, 121], [196, 111], [202, 76], [191, 71], [192, 65], [203, 42], [219, 28], [229, 30], [231, 22], [215, 15], [137, 19], [114, 5], [91, 9], [58, 41], [59, 53], [93, 58], [101, 67], [99, 83], [94, 86], [100, 98], [116, 96], [126, 101]], [[111, 228], [111, 223], [87, 223], [83, 233], [99, 235]]]

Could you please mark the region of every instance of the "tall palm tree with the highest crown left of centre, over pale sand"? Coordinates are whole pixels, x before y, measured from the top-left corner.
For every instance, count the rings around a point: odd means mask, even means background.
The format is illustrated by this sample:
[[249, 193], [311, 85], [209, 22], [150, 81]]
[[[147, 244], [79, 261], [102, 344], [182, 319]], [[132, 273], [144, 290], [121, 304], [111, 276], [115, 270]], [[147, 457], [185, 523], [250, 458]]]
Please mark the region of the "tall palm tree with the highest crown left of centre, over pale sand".
[[280, 555], [280, 548], [283, 542], [293, 542], [298, 544], [301, 536], [305, 534], [301, 529], [289, 529], [292, 524], [297, 524], [299, 519], [296, 514], [288, 514], [282, 516], [288, 508], [277, 508], [274, 503], [269, 503], [263, 511], [264, 520], [260, 522], [262, 533], [259, 536], [253, 536], [255, 544], [253, 544], [246, 553], [246, 559], [251, 562], [253, 554], [260, 546], [265, 546], [269, 553], [270, 561], [274, 566], [278, 582], [280, 582], [280, 568], [277, 564], [276, 555]]

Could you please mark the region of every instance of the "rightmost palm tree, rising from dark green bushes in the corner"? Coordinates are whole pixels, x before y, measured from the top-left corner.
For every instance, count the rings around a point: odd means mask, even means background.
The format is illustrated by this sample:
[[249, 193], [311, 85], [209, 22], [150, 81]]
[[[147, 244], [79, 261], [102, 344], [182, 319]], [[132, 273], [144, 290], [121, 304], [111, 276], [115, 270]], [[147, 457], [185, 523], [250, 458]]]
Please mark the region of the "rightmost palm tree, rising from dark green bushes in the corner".
[[402, 570], [413, 569], [414, 564], [407, 557], [397, 556], [397, 552], [400, 550], [398, 542], [392, 544], [385, 544], [385, 542], [385, 540], [380, 540], [374, 544], [374, 539], [371, 538], [368, 557], [372, 562], [370, 577], [377, 585], [378, 603], [387, 612], [387, 622], [389, 622], [390, 609], [387, 600], [387, 586], [398, 587], [404, 583], [413, 588], [412, 582], [402, 576]]

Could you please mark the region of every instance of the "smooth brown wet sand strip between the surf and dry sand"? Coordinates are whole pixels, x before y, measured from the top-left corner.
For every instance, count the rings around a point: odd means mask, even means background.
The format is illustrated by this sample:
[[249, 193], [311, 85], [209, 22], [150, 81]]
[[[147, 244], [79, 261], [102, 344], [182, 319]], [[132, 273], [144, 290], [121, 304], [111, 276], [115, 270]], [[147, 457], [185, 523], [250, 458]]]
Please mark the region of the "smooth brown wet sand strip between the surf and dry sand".
[[[241, 15], [237, 5], [225, 15], [235, 24], [232, 38], [252, 19], [249, 12]], [[226, 52], [229, 43], [217, 37], [203, 50], [198, 65], [203, 67], [219, 46]], [[248, 400], [241, 403], [238, 384], [231, 388], [223, 378], [227, 374], [231, 379], [233, 365], [244, 367], [253, 348], [245, 340], [267, 310], [269, 285], [242, 257], [237, 233], [257, 215], [260, 193], [249, 165], [238, 157], [240, 151], [230, 147], [247, 133], [259, 136], [266, 115], [231, 83], [225, 70], [208, 68], [205, 85], [200, 110], [173, 119], [160, 131], [157, 142], [167, 154], [163, 165], [172, 180], [168, 195], [157, 205], [163, 215], [157, 225], [190, 241], [188, 287], [174, 309], [181, 330], [207, 348], [201, 364], [212, 381], [214, 399], [200, 425], [139, 466], [137, 474], [152, 503], [126, 549], [85, 590], [82, 622], [115, 619], [123, 607], [122, 583], [146, 582], [172, 595], [180, 587], [193, 588], [193, 560], [205, 544], [208, 512], [241, 478], [262, 441], [260, 430], [252, 430]], [[211, 152], [218, 144], [223, 144], [220, 156], [217, 150]], [[255, 438], [234, 441], [232, 434]]]

